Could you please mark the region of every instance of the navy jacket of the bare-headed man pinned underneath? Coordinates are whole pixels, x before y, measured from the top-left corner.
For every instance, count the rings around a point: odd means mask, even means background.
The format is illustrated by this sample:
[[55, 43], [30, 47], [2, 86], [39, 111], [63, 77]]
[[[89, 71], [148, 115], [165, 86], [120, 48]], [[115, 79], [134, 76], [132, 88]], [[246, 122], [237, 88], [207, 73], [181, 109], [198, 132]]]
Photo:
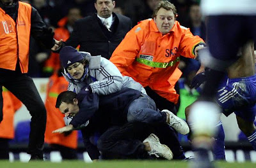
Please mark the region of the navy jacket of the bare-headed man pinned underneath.
[[122, 88], [120, 91], [109, 95], [97, 95], [92, 93], [90, 87], [84, 87], [77, 94], [79, 101], [79, 113], [70, 124], [78, 127], [89, 121], [88, 125], [81, 129], [84, 146], [92, 160], [100, 156], [97, 146], [90, 141], [95, 132], [102, 134], [111, 125], [124, 125], [127, 122], [129, 105], [140, 97], [141, 92], [132, 88]]

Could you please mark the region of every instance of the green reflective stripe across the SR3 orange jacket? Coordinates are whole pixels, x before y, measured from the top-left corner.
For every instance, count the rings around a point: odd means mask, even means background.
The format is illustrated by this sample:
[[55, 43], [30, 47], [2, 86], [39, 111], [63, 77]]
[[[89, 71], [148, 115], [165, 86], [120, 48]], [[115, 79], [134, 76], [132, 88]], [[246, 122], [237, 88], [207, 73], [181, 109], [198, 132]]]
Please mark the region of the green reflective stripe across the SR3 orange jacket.
[[145, 64], [146, 66], [150, 66], [150, 67], [159, 67], [159, 68], [172, 67], [177, 62], [179, 62], [179, 60], [180, 60], [180, 57], [177, 57], [175, 60], [172, 60], [170, 62], [153, 62], [146, 59], [136, 58], [136, 61], [140, 62], [141, 64]]

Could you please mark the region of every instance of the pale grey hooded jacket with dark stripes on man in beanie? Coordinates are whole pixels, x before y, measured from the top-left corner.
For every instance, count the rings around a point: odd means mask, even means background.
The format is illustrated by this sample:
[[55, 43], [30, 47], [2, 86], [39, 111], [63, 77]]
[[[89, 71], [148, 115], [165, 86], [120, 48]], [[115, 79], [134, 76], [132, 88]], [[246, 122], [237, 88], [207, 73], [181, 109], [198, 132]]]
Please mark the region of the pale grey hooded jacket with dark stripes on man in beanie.
[[119, 91], [122, 87], [129, 87], [147, 94], [140, 83], [129, 76], [122, 76], [116, 66], [109, 60], [100, 56], [84, 54], [89, 62], [89, 72], [83, 80], [74, 80], [67, 71], [63, 76], [69, 82], [68, 90], [78, 94], [86, 85], [90, 85], [92, 92], [98, 95], [108, 95]]

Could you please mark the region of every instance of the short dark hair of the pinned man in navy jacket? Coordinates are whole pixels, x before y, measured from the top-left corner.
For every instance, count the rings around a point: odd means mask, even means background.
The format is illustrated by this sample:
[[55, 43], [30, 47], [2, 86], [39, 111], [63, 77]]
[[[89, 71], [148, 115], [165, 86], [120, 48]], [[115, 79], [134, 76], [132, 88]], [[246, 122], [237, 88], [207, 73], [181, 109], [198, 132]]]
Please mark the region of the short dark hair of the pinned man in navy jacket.
[[61, 92], [57, 97], [55, 108], [60, 108], [60, 104], [62, 102], [66, 102], [67, 104], [72, 104], [75, 98], [76, 98], [75, 92], [71, 92], [71, 91]]

